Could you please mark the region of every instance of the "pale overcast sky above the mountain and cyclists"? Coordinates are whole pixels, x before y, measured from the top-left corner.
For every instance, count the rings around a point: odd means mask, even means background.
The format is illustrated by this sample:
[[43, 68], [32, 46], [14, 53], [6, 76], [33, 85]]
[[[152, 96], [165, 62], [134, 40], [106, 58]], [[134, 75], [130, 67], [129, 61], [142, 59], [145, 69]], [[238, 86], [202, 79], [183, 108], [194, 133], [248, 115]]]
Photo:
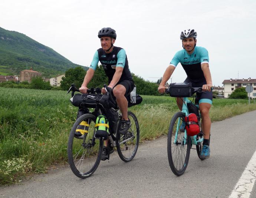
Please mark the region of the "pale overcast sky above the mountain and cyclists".
[[[131, 72], [149, 81], [163, 76], [180, 33], [197, 32], [197, 46], [209, 52], [213, 85], [224, 79], [256, 79], [255, 0], [1, 0], [0, 27], [18, 31], [73, 63], [89, 66], [102, 27], [116, 30]], [[151, 77], [151, 78], [150, 78]], [[168, 82], [183, 82], [178, 64]]]

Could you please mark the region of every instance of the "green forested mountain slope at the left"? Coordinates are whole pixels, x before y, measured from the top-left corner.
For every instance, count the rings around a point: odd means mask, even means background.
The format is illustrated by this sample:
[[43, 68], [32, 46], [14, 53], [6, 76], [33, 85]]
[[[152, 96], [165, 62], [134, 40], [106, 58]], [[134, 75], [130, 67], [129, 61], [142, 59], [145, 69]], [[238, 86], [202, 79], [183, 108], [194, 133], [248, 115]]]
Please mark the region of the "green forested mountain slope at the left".
[[[0, 27], [1, 75], [19, 75], [20, 71], [32, 67], [33, 70], [42, 72], [42, 76], [50, 77], [63, 74], [69, 68], [77, 66], [81, 65], [72, 63], [25, 34]], [[83, 68], [88, 70], [88, 67]]]

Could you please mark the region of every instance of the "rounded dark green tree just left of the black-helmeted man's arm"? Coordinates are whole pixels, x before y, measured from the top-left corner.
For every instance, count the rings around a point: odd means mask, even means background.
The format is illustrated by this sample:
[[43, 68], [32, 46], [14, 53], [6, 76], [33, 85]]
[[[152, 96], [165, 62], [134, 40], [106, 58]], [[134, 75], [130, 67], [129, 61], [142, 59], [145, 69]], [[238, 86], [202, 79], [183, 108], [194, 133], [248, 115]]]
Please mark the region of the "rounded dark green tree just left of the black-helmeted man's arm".
[[86, 71], [81, 67], [70, 68], [65, 72], [65, 77], [62, 77], [62, 81], [60, 81], [60, 87], [63, 90], [68, 90], [72, 83], [75, 83], [77, 88], [80, 88], [83, 79], [85, 78]]

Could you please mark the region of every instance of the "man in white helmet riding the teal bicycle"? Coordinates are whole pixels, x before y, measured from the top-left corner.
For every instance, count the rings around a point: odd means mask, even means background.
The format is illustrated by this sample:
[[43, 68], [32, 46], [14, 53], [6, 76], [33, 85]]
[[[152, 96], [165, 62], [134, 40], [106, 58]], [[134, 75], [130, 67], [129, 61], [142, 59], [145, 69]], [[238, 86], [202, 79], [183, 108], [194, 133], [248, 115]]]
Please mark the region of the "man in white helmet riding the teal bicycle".
[[[208, 52], [203, 47], [196, 46], [197, 33], [193, 29], [184, 30], [181, 32], [180, 39], [182, 40], [183, 49], [178, 51], [170, 62], [170, 65], [164, 72], [163, 79], [158, 87], [158, 92], [165, 92], [165, 83], [170, 79], [177, 64], [180, 62], [183, 66], [187, 78], [184, 82], [191, 82], [193, 87], [203, 87], [206, 94], [199, 95], [199, 109], [202, 117], [201, 127], [204, 132], [203, 148], [201, 158], [210, 157], [210, 129], [211, 119], [209, 110], [212, 104], [212, 87], [211, 73], [209, 69]], [[183, 99], [177, 98], [177, 105], [182, 109]]]

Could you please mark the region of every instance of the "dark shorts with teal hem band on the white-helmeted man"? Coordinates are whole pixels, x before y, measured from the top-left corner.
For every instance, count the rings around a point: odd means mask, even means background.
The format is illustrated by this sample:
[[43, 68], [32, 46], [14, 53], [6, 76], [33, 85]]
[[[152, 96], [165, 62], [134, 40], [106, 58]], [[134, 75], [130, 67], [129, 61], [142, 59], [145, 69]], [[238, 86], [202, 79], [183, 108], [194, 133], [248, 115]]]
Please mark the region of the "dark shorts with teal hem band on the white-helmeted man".
[[[193, 82], [191, 79], [186, 78], [184, 82], [191, 82], [192, 87], [202, 87], [203, 85], [206, 85], [206, 81], [201, 81], [201, 82]], [[206, 91], [205, 93], [197, 93], [197, 98], [198, 98], [198, 104], [200, 103], [213, 103], [213, 91]]]

